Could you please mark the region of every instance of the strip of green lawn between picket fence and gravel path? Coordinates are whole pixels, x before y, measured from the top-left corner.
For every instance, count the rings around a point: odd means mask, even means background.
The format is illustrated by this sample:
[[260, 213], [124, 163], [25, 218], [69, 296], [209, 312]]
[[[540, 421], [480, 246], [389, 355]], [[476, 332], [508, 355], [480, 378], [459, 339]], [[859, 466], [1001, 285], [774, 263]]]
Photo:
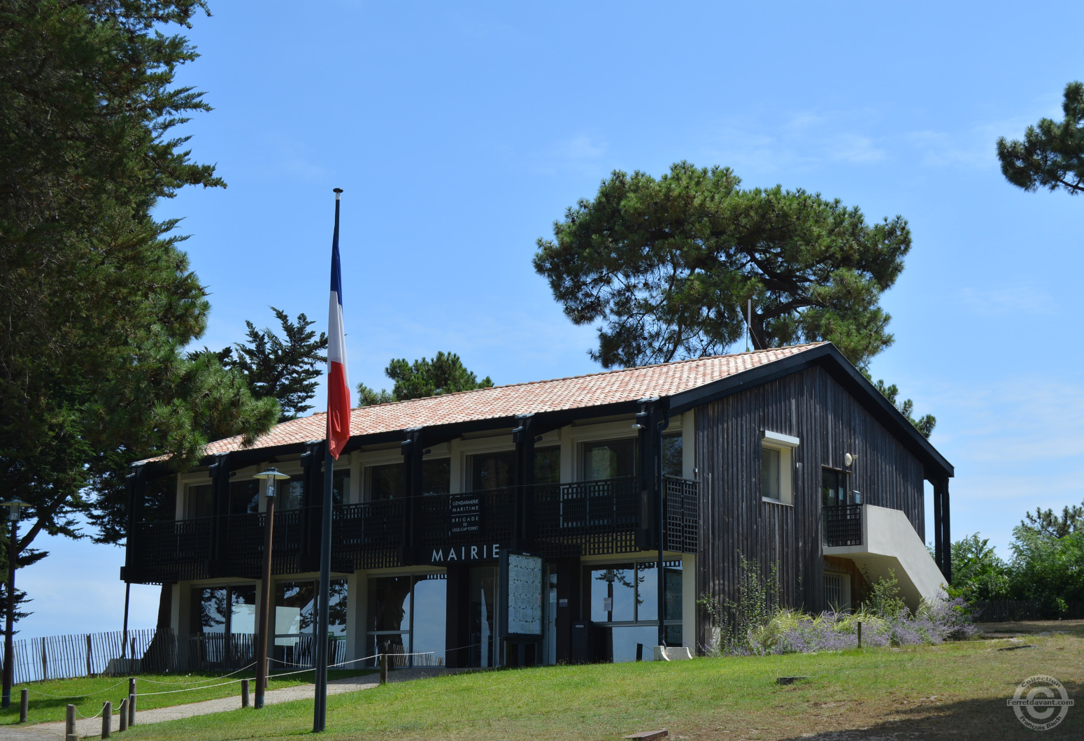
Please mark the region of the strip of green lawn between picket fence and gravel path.
[[[366, 672], [358, 670], [331, 672], [332, 678], [356, 677]], [[241, 679], [243, 677], [254, 678], [251, 672], [241, 672], [223, 677], [222, 673], [195, 673], [191, 675], [146, 675], [138, 677], [137, 692], [139, 700], [136, 703], [137, 710], [150, 710], [152, 707], [167, 707], [170, 705], [181, 705], [201, 700], [217, 700], [231, 694], [241, 694], [241, 682], [234, 681], [220, 687], [207, 687], [217, 685], [230, 679]], [[282, 689], [294, 685], [305, 685], [312, 681], [312, 672], [302, 674], [292, 674], [281, 679], [268, 682], [268, 689]], [[193, 682], [193, 684], [178, 684]], [[255, 681], [251, 682], [255, 689]], [[28, 724], [49, 723], [51, 720], [64, 719], [64, 707], [68, 703], [75, 704], [82, 715], [94, 715], [102, 710], [102, 703], [106, 700], [113, 702], [113, 712], [117, 712], [120, 701], [128, 697], [127, 677], [89, 677], [81, 679], [53, 679], [49, 681], [31, 681], [23, 685], [15, 685], [11, 692], [11, 707], [0, 708], [0, 725], [11, 725], [18, 723], [20, 693], [26, 688], [30, 690], [30, 708]], [[143, 692], [159, 692], [162, 690], [177, 690], [194, 688], [189, 692], [172, 692], [170, 694], [143, 694]], [[204, 689], [205, 688], [205, 689]]]

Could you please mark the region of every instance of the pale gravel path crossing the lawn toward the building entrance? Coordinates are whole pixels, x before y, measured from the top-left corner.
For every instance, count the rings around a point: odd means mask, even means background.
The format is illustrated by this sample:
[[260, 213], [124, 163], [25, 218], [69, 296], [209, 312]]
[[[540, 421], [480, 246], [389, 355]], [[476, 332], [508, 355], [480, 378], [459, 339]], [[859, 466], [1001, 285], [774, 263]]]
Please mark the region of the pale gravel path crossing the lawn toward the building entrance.
[[[388, 674], [388, 681], [409, 681], [411, 679], [422, 679], [425, 677], [438, 677], [447, 674], [455, 674], [460, 670], [449, 668], [408, 668], [396, 670]], [[340, 694], [343, 692], [357, 692], [358, 690], [372, 689], [379, 685], [378, 675], [369, 674], [361, 677], [347, 677], [345, 679], [332, 679], [327, 682], [327, 694]], [[311, 700], [315, 685], [297, 685], [284, 689], [271, 690], [263, 696], [263, 702], [268, 705], [280, 702], [292, 702], [294, 700]], [[223, 711], [237, 710], [241, 707], [241, 694], [220, 700], [205, 700], [193, 702], [186, 705], [173, 705], [171, 707], [156, 707], [154, 710], [139, 710], [136, 704], [136, 723], [163, 723], [164, 720], [177, 720], [178, 718], [190, 718], [193, 715], [207, 715], [208, 713], [221, 713]], [[102, 733], [102, 718], [78, 718], [75, 722], [76, 732], [80, 737], [98, 737]], [[120, 729], [120, 716], [114, 708], [113, 730]], [[36, 726], [0, 726], [0, 741], [53, 741], [64, 738], [64, 722], [41, 723]]]

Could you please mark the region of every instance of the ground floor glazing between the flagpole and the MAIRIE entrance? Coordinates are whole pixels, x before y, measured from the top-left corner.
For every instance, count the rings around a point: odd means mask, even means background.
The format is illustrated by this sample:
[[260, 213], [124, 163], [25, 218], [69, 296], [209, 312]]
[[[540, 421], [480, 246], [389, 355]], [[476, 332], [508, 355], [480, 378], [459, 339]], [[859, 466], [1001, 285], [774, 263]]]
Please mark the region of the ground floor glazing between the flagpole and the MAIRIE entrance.
[[365, 655], [401, 654], [396, 663], [404, 666], [443, 664], [447, 599], [444, 574], [370, 578]]

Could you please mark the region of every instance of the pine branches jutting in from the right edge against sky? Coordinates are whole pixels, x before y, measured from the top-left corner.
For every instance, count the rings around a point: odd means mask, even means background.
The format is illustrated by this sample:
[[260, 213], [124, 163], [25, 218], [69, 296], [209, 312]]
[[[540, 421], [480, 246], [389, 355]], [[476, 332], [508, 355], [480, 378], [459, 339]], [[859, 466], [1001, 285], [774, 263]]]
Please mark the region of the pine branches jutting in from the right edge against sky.
[[1084, 192], [1084, 83], [1066, 86], [1064, 118], [1038, 119], [1023, 132], [1023, 141], [997, 140], [1002, 174], [1025, 191], [1047, 187], [1070, 194]]

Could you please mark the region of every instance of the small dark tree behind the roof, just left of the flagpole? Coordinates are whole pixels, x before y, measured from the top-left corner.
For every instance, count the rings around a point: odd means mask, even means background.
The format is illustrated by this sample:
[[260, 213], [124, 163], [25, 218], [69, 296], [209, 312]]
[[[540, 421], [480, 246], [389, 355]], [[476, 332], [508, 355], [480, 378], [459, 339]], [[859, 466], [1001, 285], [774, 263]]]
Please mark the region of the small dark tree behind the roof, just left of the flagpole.
[[289, 315], [271, 307], [282, 327], [282, 337], [270, 328], [248, 327], [247, 342], [236, 342], [218, 353], [222, 365], [245, 377], [254, 396], [272, 396], [282, 407], [279, 421], [296, 419], [312, 408], [307, 402], [317, 393], [327, 356], [327, 335], [309, 329], [313, 322], [305, 314], [292, 322]]

